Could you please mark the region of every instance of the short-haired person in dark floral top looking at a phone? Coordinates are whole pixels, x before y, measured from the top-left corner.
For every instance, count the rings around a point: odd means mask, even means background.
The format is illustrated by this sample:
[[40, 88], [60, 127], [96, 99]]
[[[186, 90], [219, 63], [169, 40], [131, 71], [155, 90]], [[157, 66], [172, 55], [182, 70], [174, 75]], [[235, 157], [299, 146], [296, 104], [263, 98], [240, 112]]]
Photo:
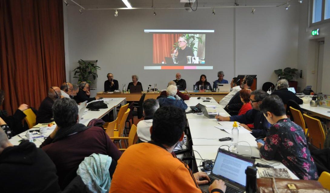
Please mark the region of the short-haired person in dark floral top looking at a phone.
[[265, 144], [257, 143], [264, 159], [281, 161], [299, 179], [317, 180], [317, 170], [308, 149], [305, 133], [285, 115], [283, 102], [277, 95], [262, 100], [260, 110], [272, 126]]

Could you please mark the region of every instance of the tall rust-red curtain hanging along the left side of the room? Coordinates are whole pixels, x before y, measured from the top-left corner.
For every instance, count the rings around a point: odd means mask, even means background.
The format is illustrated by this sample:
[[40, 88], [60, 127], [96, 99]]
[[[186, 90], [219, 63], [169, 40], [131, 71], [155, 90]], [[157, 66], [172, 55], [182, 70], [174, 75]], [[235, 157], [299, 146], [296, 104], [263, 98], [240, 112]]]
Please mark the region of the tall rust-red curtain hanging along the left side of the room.
[[2, 108], [39, 108], [48, 88], [65, 81], [63, 1], [1, 0], [0, 49]]

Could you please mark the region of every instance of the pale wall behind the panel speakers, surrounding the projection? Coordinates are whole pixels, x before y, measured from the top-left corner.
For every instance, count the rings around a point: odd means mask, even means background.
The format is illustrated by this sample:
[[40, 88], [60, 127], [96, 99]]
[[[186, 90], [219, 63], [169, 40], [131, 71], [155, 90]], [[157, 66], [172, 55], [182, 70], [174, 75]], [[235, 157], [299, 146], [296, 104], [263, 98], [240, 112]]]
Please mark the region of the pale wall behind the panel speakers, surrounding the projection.
[[[156, 83], [165, 88], [181, 72], [188, 89], [206, 74], [209, 82], [217, 79], [217, 71], [225, 72], [225, 79], [231, 80], [239, 74], [256, 74], [257, 87], [277, 78], [274, 70], [297, 67], [299, 5], [284, 8], [257, 8], [250, 14], [250, 8], [185, 10], [118, 10], [114, 17], [112, 10], [85, 11], [81, 15], [75, 6], [67, 9], [67, 34], [69, 69], [77, 66], [79, 59], [98, 60], [102, 68], [98, 72], [98, 91], [103, 91], [106, 74], [114, 73], [121, 84], [131, 82], [131, 75], [137, 74], [146, 89], [146, 84]], [[234, 30], [236, 28], [236, 30]], [[152, 63], [152, 41], [144, 29], [214, 29], [214, 38], [206, 36], [206, 57], [213, 70], [144, 70]], [[236, 39], [236, 41], [235, 41]], [[208, 47], [208, 43], [213, 47]], [[236, 52], [236, 57], [235, 53]], [[67, 57], [67, 55], [66, 55]], [[151, 57], [148, 59], [148, 57]], [[70, 74], [70, 81], [72, 80]]]

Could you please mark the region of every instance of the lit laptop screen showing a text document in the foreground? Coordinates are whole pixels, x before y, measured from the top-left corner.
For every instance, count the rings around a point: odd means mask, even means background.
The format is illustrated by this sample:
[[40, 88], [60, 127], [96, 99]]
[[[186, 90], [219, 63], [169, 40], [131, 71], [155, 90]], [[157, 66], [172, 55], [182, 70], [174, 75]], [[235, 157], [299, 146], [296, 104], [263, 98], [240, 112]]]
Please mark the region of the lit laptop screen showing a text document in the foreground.
[[253, 166], [253, 163], [242, 160], [240, 157], [235, 157], [235, 155], [218, 152], [212, 173], [245, 186], [245, 170], [248, 166]]

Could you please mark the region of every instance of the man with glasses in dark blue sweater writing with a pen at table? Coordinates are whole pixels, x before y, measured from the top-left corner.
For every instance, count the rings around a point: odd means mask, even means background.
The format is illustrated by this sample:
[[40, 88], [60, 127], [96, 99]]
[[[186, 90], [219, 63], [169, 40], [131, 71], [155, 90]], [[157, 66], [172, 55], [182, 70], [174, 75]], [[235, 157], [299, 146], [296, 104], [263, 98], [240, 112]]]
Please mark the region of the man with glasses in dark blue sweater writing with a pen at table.
[[[218, 121], [237, 121], [241, 123], [240, 125], [245, 129], [252, 132], [252, 135], [256, 138], [264, 138], [267, 135], [267, 130], [271, 126], [268, 123], [266, 117], [260, 111], [259, 106], [268, 94], [263, 90], [254, 90], [251, 92], [250, 103], [253, 109], [249, 110], [244, 115], [236, 115], [231, 117], [223, 117], [221, 115], [216, 116], [215, 118]], [[254, 128], [251, 130], [246, 124], [253, 123]]]

